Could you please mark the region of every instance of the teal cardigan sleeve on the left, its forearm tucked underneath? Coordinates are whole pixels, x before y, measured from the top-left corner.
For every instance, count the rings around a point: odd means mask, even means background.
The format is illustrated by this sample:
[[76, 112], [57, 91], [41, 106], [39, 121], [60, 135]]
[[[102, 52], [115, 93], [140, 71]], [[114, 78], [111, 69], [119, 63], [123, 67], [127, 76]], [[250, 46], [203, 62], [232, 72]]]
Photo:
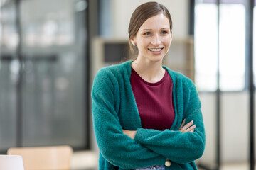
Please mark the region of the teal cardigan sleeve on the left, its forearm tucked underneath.
[[92, 119], [102, 156], [122, 169], [164, 164], [166, 158], [161, 154], [123, 134], [116, 111], [115, 91], [119, 91], [118, 84], [110, 73], [98, 72], [92, 86]]

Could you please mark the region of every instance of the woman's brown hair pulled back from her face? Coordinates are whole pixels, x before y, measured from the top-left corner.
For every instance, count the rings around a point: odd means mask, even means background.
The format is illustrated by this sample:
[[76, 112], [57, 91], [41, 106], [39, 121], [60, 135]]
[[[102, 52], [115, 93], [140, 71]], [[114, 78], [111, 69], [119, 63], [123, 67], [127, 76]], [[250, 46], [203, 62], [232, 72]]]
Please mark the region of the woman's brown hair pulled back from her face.
[[170, 30], [172, 30], [171, 15], [168, 9], [162, 4], [159, 4], [153, 1], [146, 2], [145, 4], [138, 6], [135, 9], [135, 11], [132, 13], [132, 17], [129, 23], [128, 33], [129, 33], [129, 46], [133, 53], [134, 53], [134, 50], [137, 51], [137, 47], [134, 47], [132, 45], [131, 38], [137, 34], [139, 28], [148, 18], [151, 18], [152, 16], [156, 16], [159, 13], [163, 13], [164, 16], [168, 18], [170, 23]]

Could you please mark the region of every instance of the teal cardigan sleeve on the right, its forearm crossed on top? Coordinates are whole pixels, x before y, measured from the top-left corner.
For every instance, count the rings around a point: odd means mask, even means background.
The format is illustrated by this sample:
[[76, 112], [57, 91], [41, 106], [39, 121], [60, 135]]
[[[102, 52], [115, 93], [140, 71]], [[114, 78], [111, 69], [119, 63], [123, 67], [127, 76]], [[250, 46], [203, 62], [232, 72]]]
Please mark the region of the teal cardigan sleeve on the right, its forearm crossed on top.
[[187, 96], [187, 102], [184, 102], [186, 106], [184, 106], [183, 115], [186, 118], [186, 123], [193, 120], [194, 125], [196, 125], [194, 132], [183, 133], [178, 130], [159, 131], [139, 128], [134, 139], [136, 142], [178, 164], [193, 162], [200, 158], [205, 148], [201, 102], [196, 87], [192, 85], [191, 88], [183, 92]]

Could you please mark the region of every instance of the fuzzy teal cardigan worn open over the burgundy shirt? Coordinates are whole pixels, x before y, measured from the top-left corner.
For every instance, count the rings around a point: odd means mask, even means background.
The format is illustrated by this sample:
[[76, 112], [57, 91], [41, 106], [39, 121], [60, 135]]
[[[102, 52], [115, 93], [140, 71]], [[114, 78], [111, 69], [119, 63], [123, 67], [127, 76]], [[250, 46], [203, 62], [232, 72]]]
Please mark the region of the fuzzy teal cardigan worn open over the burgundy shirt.
[[[197, 169], [193, 162], [205, 148], [201, 102], [193, 82], [166, 69], [172, 81], [175, 120], [160, 131], [142, 128], [130, 84], [132, 61], [100, 69], [92, 86], [92, 120], [100, 150], [99, 169], [135, 169], [165, 164], [166, 169]], [[171, 104], [171, 103], [170, 103]], [[181, 122], [193, 120], [194, 132], [180, 132]], [[122, 129], [137, 130], [134, 140]]]

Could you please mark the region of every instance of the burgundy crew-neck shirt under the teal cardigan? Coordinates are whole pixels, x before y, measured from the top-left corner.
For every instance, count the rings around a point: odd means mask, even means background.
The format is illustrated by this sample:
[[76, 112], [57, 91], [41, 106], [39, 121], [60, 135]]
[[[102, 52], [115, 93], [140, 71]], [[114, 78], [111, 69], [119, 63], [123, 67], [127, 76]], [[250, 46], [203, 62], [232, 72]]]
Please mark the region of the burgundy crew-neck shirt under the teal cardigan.
[[156, 82], [149, 83], [132, 69], [132, 91], [142, 120], [142, 128], [165, 130], [174, 123], [172, 99], [173, 82], [168, 72]]

